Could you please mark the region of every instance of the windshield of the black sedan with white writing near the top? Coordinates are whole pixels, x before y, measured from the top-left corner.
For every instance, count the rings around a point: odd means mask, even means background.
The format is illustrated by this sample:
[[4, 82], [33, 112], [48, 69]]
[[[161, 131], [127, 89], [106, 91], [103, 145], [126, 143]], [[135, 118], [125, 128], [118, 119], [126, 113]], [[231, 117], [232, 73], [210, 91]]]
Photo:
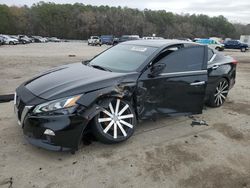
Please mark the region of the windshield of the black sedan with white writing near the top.
[[136, 71], [157, 48], [136, 45], [117, 45], [90, 61], [113, 72]]

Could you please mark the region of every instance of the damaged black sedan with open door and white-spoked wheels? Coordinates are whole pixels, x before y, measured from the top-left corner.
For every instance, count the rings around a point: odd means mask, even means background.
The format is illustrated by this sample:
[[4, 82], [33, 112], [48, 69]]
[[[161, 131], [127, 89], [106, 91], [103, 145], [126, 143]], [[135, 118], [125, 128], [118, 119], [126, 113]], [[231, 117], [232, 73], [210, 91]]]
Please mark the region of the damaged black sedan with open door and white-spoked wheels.
[[39, 147], [76, 151], [87, 132], [118, 143], [138, 120], [199, 114], [205, 103], [221, 106], [235, 83], [236, 64], [192, 42], [124, 42], [23, 83], [15, 111], [26, 138]]

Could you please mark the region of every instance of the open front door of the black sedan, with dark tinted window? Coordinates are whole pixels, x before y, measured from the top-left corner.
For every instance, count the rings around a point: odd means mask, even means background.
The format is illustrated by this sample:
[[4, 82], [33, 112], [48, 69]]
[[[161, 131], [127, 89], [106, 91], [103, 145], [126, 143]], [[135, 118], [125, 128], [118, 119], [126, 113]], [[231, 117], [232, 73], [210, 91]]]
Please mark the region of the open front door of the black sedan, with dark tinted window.
[[171, 47], [154, 65], [165, 64], [157, 75], [148, 68], [138, 80], [138, 112], [154, 115], [188, 115], [202, 112], [207, 83], [207, 46]]

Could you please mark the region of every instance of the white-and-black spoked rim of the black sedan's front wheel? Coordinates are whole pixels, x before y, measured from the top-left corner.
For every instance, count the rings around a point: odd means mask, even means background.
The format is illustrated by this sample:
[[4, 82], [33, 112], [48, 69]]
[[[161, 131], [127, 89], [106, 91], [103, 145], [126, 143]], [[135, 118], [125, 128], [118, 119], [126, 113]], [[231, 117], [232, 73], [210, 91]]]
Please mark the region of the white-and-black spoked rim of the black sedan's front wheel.
[[98, 117], [104, 134], [112, 139], [124, 139], [133, 133], [135, 115], [129, 105], [120, 100], [112, 100], [108, 108], [104, 109]]

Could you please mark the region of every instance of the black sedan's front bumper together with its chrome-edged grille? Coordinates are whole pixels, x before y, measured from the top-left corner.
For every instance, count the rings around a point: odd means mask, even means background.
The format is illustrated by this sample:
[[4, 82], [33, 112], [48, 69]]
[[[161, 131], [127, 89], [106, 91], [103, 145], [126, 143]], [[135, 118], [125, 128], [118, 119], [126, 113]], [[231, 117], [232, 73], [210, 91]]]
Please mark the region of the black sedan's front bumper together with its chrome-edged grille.
[[[35, 96], [23, 85], [16, 90], [14, 110], [27, 140], [49, 150], [77, 150], [89, 120], [77, 112], [70, 115], [34, 115], [34, 107], [44, 102], [47, 101]], [[55, 135], [44, 134], [46, 129]]]

